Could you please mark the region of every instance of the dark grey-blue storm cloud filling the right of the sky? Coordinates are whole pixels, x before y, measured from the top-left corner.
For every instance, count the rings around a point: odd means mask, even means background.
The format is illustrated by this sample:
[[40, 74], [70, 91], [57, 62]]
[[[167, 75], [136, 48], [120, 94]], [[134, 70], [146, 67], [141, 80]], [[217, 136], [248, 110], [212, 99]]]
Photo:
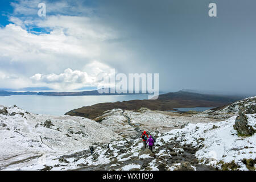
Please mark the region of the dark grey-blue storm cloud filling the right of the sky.
[[[217, 4], [217, 17], [208, 5]], [[132, 59], [119, 72], [159, 73], [160, 90], [256, 94], [255, 1], [100, 1]]]

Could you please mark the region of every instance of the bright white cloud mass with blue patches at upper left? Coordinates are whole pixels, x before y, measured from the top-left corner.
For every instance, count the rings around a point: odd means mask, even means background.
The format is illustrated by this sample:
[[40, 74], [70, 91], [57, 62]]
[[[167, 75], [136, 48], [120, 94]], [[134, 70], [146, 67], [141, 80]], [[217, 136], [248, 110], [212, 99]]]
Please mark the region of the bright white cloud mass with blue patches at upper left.
[[[8, 76], [2, 76], [0, 87], [92, 86], [98, 73], [110, 72], [109, 65], [129, 60], [127, 50], [111, 41], [119, 38], [118, 31], [96, 16], [88, 16], [92, 15], [91, 8], [79, 1], [46, 1], [47, 12], [57, 14], [39, 18], [38, 3], [38, 0], [12, 3], [14, 14], [9, 20], [13, 23], [0, 28], [0, 72], [16, 75], [20, 81], [17, 84], [15, 79], [9, 79], [6, 84]], [[42, 32], [34, 34], [33, 27]]]

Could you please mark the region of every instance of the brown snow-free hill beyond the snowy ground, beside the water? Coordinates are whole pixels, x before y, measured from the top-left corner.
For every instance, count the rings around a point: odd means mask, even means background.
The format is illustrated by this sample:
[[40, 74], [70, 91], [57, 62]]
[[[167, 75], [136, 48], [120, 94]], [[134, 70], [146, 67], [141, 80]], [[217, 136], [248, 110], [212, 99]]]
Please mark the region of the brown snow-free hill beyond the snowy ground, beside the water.
[[102, 115], [106, 110], [127, 109], [138, 110], [147, 107], [151, 110], [173, 110], [179, 107], [219, 107], [241, 100], [241, 96], [217, 96], [211, 94], [200, 94], [193, 92], [170, 92], [159, 95], [157, 100], [133, 100], [123, 102], [108, 102], [92, 106], [85, 106], [67, 112], [67, 115], [86, 117], [94, 119]]

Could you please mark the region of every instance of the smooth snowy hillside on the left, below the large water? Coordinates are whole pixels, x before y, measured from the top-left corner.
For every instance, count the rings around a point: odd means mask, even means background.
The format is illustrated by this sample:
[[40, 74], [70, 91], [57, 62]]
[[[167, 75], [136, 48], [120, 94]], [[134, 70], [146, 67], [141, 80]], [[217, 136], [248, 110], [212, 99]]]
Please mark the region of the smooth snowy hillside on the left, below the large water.
[[18, 107], [0, 109], [0, 169], [35, 165], [48, 157], [88, 149], [94, 142], [118, 138], [112, 130], [86, 118], [31, 114]]

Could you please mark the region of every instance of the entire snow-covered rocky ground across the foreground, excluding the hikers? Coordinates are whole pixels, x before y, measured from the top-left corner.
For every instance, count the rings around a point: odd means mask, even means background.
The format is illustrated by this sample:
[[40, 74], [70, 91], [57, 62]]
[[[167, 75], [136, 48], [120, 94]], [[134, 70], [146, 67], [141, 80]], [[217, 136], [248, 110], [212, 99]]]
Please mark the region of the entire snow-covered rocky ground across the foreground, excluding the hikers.
[[[113, 109], [95, 122], [82, 117], [32, 114], [0, 106], [0, 170], [255, 170], [256, 134], [234, 129], [239, 110], [256, 129], [255, 98], [209, 113], [189, 115], [142, 108]], [[153, 153], [144, 150], [138, 131], [156, 138]], [[251, 114], [249, 114], [251, 113]], [[207, 115], [205, 115], [207, 114]], [[94, 146], [93, 155], [89, 146]]]

